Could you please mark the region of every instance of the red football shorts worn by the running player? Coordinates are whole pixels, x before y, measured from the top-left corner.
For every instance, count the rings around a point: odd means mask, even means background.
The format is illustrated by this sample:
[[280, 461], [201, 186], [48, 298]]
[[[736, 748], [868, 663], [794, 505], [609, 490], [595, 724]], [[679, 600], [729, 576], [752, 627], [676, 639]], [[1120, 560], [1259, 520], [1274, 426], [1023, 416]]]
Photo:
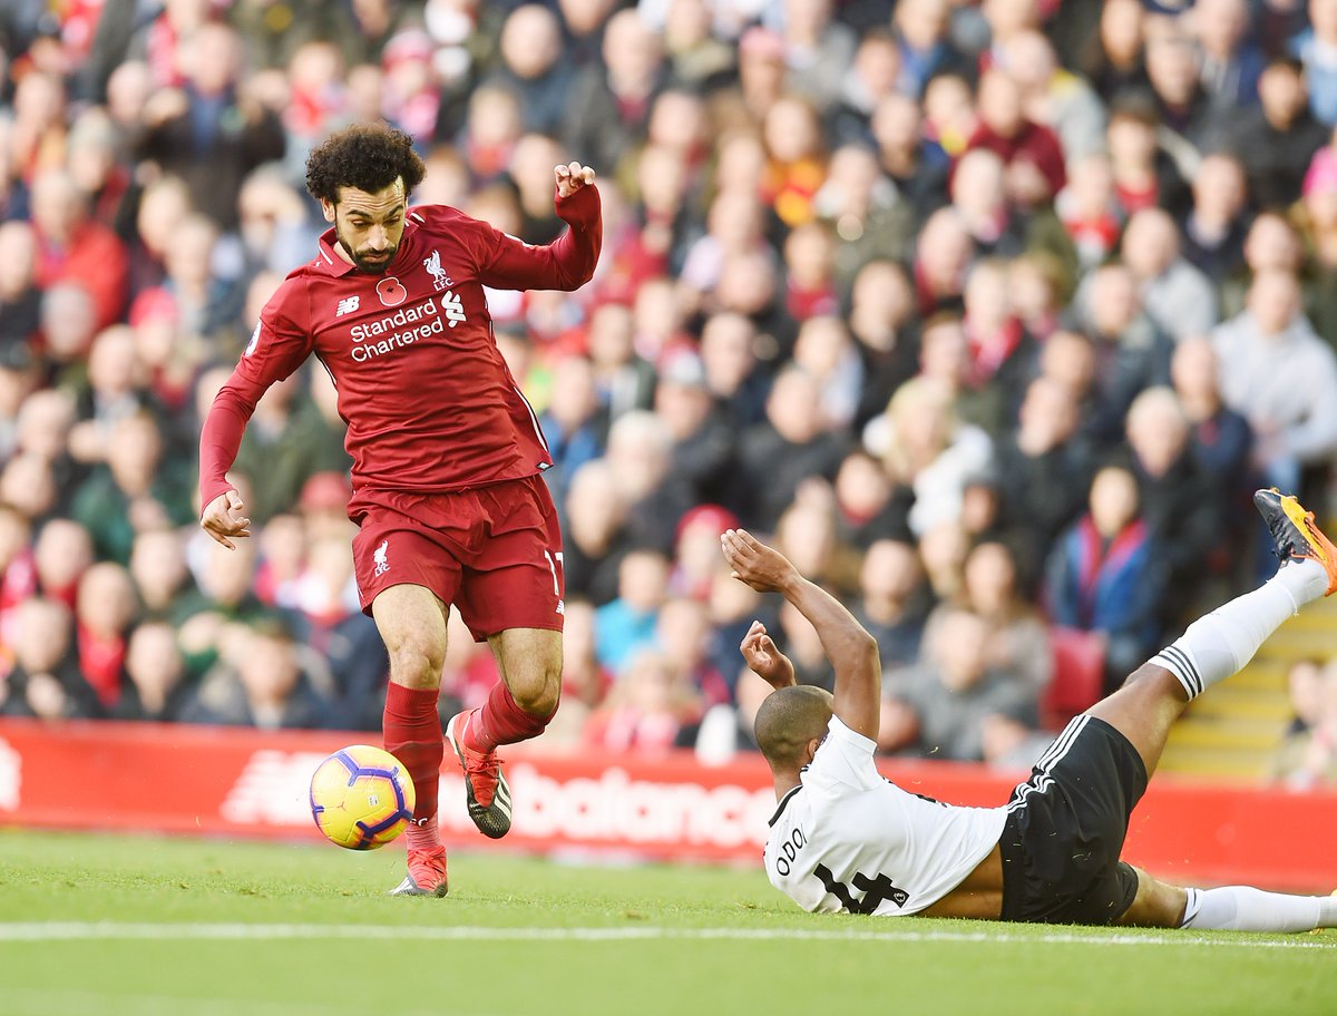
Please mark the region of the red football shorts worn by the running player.
[[353, 568], [362, 612], [390, 586], [425, 586], [477, 642], [507, 628], [562, 631], [562, 531], [541, 476], [469, 491], [358, 491]]

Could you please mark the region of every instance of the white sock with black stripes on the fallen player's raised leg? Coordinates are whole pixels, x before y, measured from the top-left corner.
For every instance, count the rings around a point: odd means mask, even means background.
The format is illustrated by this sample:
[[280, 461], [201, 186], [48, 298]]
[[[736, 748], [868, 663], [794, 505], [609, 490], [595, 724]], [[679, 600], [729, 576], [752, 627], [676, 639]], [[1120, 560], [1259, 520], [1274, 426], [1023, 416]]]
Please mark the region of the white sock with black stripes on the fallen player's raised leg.
[[1282, 622], [1326, 591], [1328, 572], [1318, 561], [1286, 561], [1262, 588], [1198, 618], [1151, 663], [1174, 674], [1194, 699], [1243, 667]]

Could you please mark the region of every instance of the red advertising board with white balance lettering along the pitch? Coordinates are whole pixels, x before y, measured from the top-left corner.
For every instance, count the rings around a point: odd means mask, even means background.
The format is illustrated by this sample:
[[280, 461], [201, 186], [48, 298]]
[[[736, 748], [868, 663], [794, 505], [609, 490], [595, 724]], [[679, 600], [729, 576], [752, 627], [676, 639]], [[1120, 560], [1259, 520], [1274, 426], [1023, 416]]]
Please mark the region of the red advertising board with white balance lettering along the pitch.
[[[0, 721], [0, 825], [317, 840], [306, 803], [316, 765], [374, 735], [148, 723]], [[1024, 773], [890, 759], [916, 793], [997, 805]], [[775, 801], [765, 763], [702, 766], [663, 755], [507, 751], [515, 818], [507, 849], [759, 862]], [[449, 757], [448, 844], [496, 849], [473, 830]], [[1158, 777], [1124, 856], [1171, 880], [1328, 892], [1337, 886], [1337, 793], [1286, 793]]]

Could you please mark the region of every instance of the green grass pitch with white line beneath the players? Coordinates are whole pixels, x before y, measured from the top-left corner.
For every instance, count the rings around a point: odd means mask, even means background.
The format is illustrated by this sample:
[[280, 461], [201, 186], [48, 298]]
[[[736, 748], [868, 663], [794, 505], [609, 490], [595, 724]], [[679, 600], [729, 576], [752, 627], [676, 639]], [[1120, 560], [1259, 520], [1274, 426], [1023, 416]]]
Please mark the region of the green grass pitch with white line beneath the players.
[[762, 872], [0, 832], [4, 1016], [1337, 1013], [1337, 933], [809, 916]]

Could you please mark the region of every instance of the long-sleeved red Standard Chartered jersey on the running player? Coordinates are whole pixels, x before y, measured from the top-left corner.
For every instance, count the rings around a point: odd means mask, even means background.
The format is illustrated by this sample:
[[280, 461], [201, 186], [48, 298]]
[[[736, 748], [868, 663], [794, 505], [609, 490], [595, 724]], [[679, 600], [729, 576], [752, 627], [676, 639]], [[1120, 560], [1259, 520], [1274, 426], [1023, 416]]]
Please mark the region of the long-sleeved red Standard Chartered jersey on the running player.
[[354, 270], [328, 230], [265, 305], [214, 400], [199, 442], [202, 504], [231, 487], [226, 472], [255, 402], [312, 353], [338, 388], [354, 487], [452, 491], [551, 465], [483, 287], [574, 290], [590, 279], [603, 237], [598, 191], [582, 187], [556, 207], [571, 229], [544, 247], [443, 205], [410, 209], [380, 275]]

